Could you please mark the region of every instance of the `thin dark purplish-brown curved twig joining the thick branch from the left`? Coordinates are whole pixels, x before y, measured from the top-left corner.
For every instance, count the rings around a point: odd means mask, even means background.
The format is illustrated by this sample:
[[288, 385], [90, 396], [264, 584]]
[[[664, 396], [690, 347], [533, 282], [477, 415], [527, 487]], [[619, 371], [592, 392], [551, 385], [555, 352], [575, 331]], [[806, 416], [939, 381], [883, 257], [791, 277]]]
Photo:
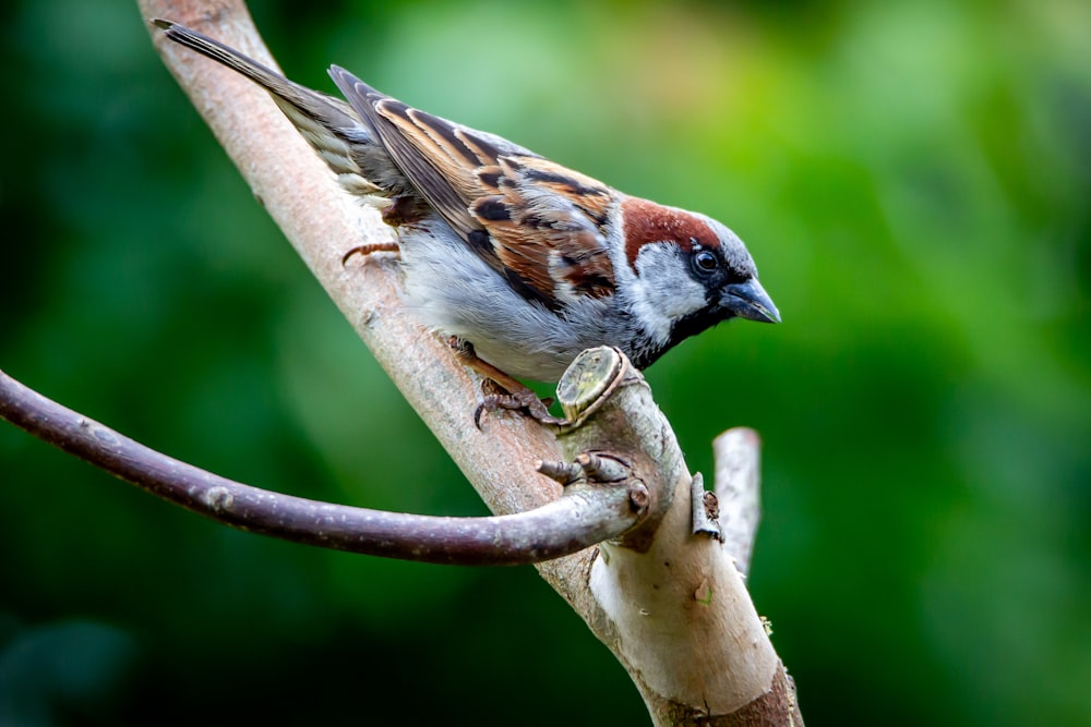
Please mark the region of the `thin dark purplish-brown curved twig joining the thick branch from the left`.
[[0, 417], [166, 500], [239, 530], [434, 564], [517, 566], [616, 537], [640, 518], [624, 486], [568, 485], [535, 510], [447, 518], [332, 505], [251, 487], [155, 451], [0, 371]]

